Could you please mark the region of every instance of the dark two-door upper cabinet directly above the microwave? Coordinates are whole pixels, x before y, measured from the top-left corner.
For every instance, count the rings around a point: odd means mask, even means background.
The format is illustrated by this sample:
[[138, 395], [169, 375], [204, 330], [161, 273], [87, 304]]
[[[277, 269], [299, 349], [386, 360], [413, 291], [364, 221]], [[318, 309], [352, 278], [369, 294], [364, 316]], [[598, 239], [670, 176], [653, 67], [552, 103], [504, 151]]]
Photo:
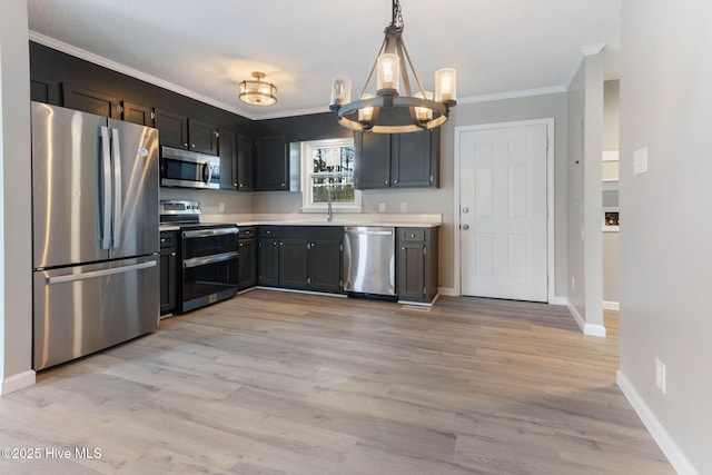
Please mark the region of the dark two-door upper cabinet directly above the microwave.
[[218, 155], [217, 128], [211, 123], [164, 109], [155, 109], [154, 123], [160, 145]]

